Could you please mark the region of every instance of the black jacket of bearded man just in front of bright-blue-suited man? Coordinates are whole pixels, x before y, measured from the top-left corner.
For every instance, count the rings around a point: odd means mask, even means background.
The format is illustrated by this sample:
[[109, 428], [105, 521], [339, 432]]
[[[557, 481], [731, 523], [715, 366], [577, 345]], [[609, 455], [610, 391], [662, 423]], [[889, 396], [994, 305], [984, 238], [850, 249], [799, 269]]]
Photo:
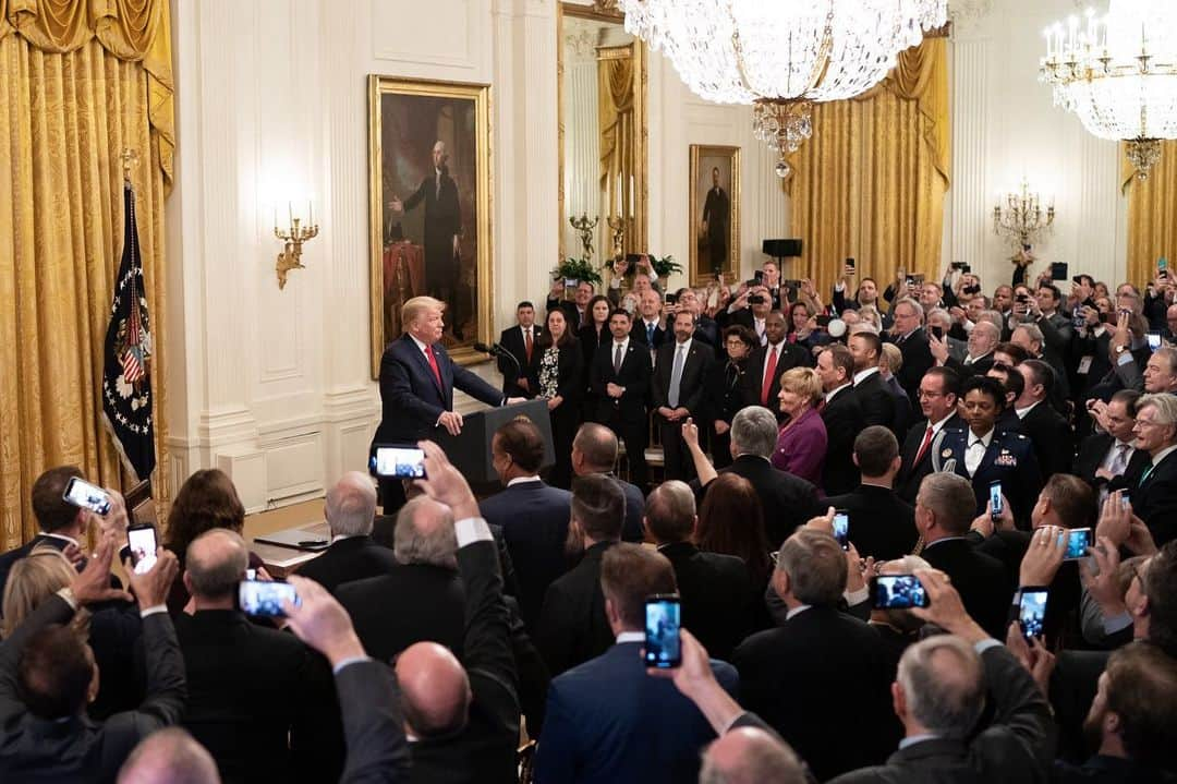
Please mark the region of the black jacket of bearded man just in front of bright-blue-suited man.
[[536, 647], [553, 676], [604, 653], [613, 644], [600, 591], [600, 564], [614, 542], [585, 550], [571, 571], [547, 586], [536, 623]]

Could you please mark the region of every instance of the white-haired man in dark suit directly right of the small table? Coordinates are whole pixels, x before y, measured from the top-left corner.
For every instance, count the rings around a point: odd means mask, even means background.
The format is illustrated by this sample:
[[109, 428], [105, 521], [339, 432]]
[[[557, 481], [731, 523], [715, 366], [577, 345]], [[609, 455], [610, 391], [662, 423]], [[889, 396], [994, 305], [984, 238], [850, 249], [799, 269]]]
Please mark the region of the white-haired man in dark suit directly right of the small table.
[[392, 571], [392, 551], [372, 540], [375, 520], [375, 487], [371, 477], [350, 471], [327, 491], [322, 509], [331, 529], [331, 546], [298, 569], [328, 592], [341, 583], [377, 577]]

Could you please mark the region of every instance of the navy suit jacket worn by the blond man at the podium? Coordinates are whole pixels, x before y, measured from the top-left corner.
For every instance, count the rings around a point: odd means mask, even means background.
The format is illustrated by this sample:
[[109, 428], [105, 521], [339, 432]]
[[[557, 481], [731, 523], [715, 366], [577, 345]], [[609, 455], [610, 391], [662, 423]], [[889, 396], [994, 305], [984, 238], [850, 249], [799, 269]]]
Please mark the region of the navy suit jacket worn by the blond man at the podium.
[[373, 444], [415, 444], [433, 438], [438, 417], [453, 410], [454, 388], [491, 406], [503, 403], [498, 390], [455, 364], [441, 344], [434, 344], [433, 353], [441, 373], [440, 386], [425, 353], [418, 351], [408, 334], [384, 350], [380, 359], [383, 418]]

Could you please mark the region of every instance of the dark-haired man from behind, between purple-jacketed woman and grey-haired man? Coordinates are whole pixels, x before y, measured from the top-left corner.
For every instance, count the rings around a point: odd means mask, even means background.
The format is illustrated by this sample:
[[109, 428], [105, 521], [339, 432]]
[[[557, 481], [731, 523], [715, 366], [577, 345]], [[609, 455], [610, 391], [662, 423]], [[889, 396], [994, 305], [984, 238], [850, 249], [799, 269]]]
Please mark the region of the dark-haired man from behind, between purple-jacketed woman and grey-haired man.
[[915, 510], [892, 489], [899, 460], [895, 434], [879, 425], [867, 427], [855, 439], [862, 484], [851, 493], [825, 499], [827, 506], [850, 513], [850, 540], [860, 556], [873, 556], [876, 562], [906, 556], [919, 538]]

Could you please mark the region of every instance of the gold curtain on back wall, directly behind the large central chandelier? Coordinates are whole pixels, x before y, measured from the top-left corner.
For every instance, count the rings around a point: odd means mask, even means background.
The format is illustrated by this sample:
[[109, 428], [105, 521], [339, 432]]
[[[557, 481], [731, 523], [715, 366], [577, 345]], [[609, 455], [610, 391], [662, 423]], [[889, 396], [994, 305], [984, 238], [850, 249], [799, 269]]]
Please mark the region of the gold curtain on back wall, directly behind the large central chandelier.
[[950, 161], [946, 40], [929, 38], [875, 88], [813, 106], [813, 138], [789, 159], [804, 255], [786, 272], [829, 292], [855, 257], [859, 278], [880, 286], [900, 267], [936, 279]]

